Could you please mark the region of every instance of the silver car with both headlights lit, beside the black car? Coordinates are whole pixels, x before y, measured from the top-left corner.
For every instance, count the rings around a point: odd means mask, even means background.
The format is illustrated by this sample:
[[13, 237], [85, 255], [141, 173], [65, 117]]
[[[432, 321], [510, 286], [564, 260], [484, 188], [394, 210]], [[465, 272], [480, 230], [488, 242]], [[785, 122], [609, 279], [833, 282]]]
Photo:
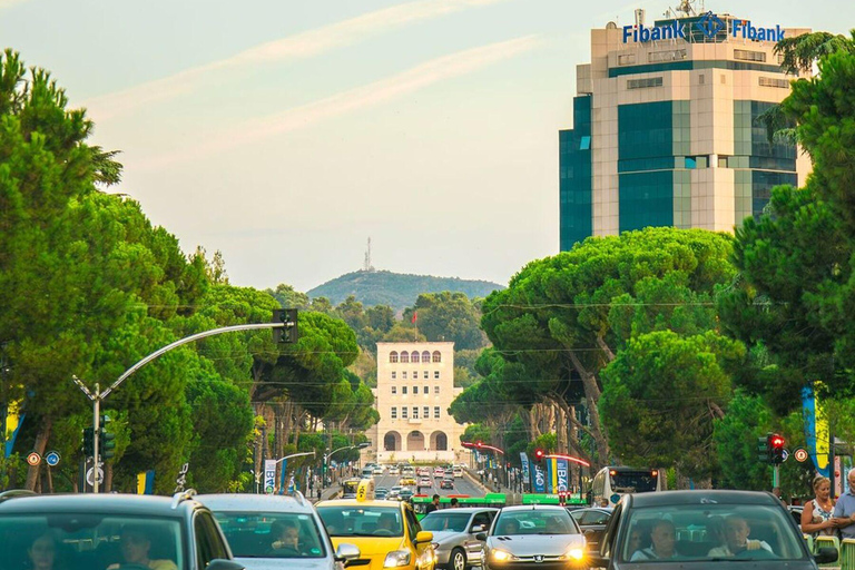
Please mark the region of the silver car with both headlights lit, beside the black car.
[[568, 570], [584, 568], [584, 535], [558, 505], [505, 507], [484, 539], [484, 570]]

